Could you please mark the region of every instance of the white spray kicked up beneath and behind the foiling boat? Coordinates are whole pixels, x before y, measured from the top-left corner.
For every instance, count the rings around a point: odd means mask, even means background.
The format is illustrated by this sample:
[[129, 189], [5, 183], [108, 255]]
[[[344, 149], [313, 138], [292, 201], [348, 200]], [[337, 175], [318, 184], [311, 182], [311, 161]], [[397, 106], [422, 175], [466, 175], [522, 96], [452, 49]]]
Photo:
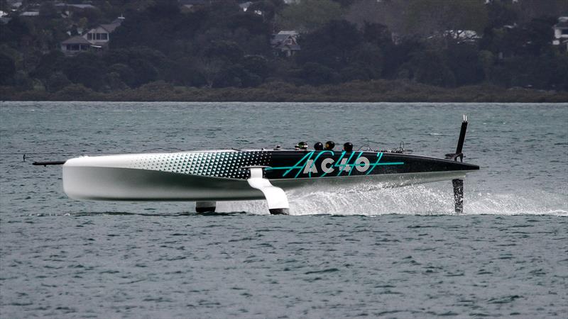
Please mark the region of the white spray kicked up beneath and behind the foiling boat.
[[[290, 214], [303, 215], [455, 215], [449, 183], [388, 188], [381, 184], [358, 184], [334, 188], [310, 187], [288, 191]], [[218, 211], [268, 213], [265, 201], [217, 203]], [[547, 191], [467, 190], [463, 215], [548, 215], [568, 216], [568, 195]]]

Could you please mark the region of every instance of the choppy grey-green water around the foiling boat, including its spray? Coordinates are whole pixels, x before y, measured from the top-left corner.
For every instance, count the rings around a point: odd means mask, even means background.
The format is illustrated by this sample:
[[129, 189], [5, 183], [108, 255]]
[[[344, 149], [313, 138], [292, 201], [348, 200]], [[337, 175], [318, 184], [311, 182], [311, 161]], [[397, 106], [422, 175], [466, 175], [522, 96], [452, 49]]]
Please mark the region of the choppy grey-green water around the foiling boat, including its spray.
[[[0, 103], [0, 317], [425, 318], [568, 313], [568, 104]], [[70, 200], [77, 155], [354, 142], [479, 164], [452, 187], [263, 201]]]

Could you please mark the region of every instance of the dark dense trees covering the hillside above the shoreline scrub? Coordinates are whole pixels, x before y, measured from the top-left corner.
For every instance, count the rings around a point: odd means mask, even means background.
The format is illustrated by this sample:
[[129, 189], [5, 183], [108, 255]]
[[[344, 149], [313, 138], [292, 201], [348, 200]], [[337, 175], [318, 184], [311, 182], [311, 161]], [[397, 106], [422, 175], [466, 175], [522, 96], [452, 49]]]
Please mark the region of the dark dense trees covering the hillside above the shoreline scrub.
[[[96, 9], [68, 18], [50, 2], [38, 2], [39, 16], [13, 14], [1, 26], [0, 99], [74, 91], [76, 99], [85, 91], [113, 96], [154, 82], [162, 89], [344, 90], [354, 86], [343, 83], [373, 81], [368, 87], [376, 90], [377, 83], [389, 83], [378, 80], [389, 80], [428, 88], [568, 90], [568, 55], [551, 44], [557, 17], [568, 16], [564, 1], [261, 0], [245, 12], [232, 0], [192, 10], [174, 0], [116, 0], [92, 1]], [[122, 13], [126, 19], [111, 33], [109, 50], [60, 51], [68, 30], [109, 23]], [[301, 32], [293, 57], [278, 57], [271, 47], [271, 34], [283, 28]]]

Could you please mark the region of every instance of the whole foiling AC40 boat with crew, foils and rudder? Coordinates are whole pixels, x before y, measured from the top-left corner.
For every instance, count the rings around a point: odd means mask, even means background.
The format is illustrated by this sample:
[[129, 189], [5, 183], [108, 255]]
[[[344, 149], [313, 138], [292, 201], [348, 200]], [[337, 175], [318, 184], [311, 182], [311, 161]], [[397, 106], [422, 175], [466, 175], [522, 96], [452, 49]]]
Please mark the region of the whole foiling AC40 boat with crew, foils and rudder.
[[[452, 180], [456, 211], [463, 210], [463, 179], [479, 169], [461, 162], [467, 121], [455, 153], [444, 159], [403, 150], [207, 150], [77, 157], [63, 164], [63, 189], [71, 198], [110, 201], [196, 201], [198, 212], [216, 201], [266, 198], [271, 213], [288, 213], [285, 191], [310, 184], [372, 181], [397, 187]], [[458, 162], [457, 159], [460, 159]], [[61, 162], [53, 162], [61, 164]], [[34, 164], [50, 164], [35, 162]]]

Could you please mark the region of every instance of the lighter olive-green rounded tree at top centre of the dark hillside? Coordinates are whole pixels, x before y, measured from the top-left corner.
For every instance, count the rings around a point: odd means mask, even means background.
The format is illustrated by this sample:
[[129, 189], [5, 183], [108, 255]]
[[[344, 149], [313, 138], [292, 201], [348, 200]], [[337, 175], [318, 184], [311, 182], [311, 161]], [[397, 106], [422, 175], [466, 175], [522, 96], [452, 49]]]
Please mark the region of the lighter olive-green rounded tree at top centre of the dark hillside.
[[282, 29], [307, 33], [338, 19], [342, 15], [341, 6], [331, 0], [302, 0], [290, 4], [276, 18]]

